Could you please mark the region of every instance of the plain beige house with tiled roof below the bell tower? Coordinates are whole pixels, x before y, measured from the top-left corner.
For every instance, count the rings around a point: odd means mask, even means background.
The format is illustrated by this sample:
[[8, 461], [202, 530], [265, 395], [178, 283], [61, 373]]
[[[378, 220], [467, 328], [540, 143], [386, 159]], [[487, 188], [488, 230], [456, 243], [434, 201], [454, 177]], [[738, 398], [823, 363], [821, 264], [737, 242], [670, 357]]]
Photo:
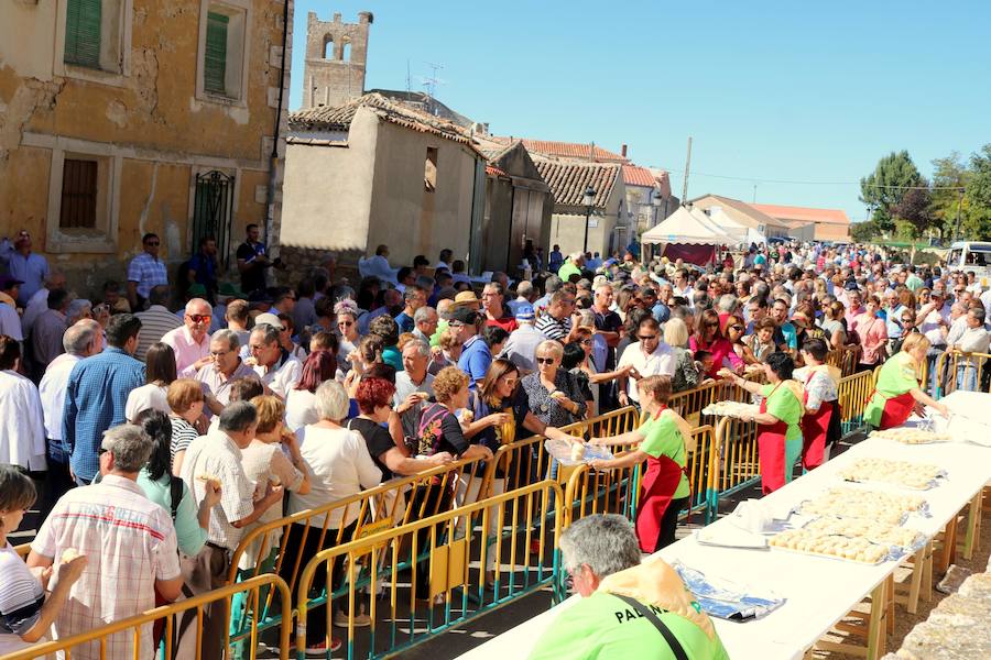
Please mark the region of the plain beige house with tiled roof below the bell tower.
[[290, 116], [283, 258], [351, 265], [390, 248], [393, 265], [469, 253], [486, 202], [486, 157], [456, 124], [378, 94]]

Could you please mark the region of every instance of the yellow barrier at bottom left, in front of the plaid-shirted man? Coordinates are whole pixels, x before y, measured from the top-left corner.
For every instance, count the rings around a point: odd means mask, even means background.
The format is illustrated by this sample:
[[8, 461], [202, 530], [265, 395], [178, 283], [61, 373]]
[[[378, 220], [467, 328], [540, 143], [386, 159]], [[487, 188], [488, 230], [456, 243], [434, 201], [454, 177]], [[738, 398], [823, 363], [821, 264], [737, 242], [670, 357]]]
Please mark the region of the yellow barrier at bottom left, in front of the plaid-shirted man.
[[[78, 647], [80, 647], [81, 645], [90, 645], [90, 649], [86, 652], [86, 654], [88, 656], [98, 656], [100, 658], [112, 657], [108, 653], [107, 645], [109, 638], [113, 635], [128, 635], [133, 638], [133, 658], [137, 659], [151, 657], [152, 653], [155, 653], [155, 649], [141, 648], [141, 630], [142, 628], [151, 628], [152, 624], [160, 619], [164, 619], [165, 622], [165, 658], [172, 658], [174, 650], [172, 648], [172, 637], [173, 631], [176, 627], [176, 618], [178, 615], [190, 609], [195, 609], [197, 618], [199, 620], [199, 627], [202, 628], [204, 609], [208, 606], [215, 603], [226, 603], [229, 609], [230, 600], [236, 594], [247, 594], [247, 598], [249, 602], [258, 603], [261, 600], [259, 594], [262, 590], [268, 590], [270, 592], [277, 591], [282, 607], [286, 612], [290, 610], [292, 597], [288, 586], [286, 586], [285, 582], [283, 582], [277, 575], [259, 575], [258, 578], [252, 578], [251, 580], [246, 580], [244, 582], [238, 584], [222, 586], [220, 588], [216, 588], [214, 591], [194, 596], [185, 601], [179, 601], [171, 605], [163, 605], [162, 607], [155, 607], [154, 609], [149, 609], [148, 612], [144, 612], [137, 616], [131, 616], [119, 622], [113, 622], [112, 624], [100, 626], [98, 628], [94, 628], [92, 630], [80, 632], [79, 635], [73, 635], [72, 637], [66, 637], [65, 639], [57, 639], [54, 641], [39, 644], [31, 648], [3, 656], [3, 660], [29, 660], [32, 658], [44, 658], [45, 656], [55, 653], [56, 651], [65, 653], [66, 658], [73, 658], [74, 650], [76, 650], [77, 652], [81, 652], [80, 650], [78, 650]], [[200, 634], [202, 631], [198, 635]], [[254, 658], [257, 658], [259, 648], [258, 628], [255, 626], [252, 625], [248, 638], [249, 639], [247, 639], [246, 641], [249, 641], [249, 644], [246, 645], [247, 648], [244, 658], [247, 660], [253, 660]], [[227, 631], [225, 631], [224, 641], [225, 646], [229, 649], [230, 638]], [[282, 660], [288, 660], [288, 642], [290, 624], [284, 623], [281, 626], [279, 632], [277, 652], [279, 658], [281, 658]], [[94, 645], [96, 645], [96, 648], [92, 648]], [[199, 645], [197, 644], [195, 658], [183, 660], [214, 660], [213, 658], [200, 659], [200, 651], [198, 647]]]

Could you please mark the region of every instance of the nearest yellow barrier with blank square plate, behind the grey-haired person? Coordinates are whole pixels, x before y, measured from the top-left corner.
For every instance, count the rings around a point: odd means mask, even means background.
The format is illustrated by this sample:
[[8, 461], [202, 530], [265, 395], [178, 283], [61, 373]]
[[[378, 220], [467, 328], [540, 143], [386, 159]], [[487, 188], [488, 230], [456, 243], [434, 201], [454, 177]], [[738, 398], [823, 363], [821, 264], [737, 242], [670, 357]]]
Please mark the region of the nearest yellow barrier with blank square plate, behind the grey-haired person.
[[[344, 605], [349, 613], [345, 649], [347, 658], [353, 659], [395, 654], [547, 586], [560, 598], [556, 550], [560, 503], [560, 486], [546, 480], [323, 550], [300, 576], [297, 657], [302, 660], [307, 642], [317, 641], [307, 639], [306, 620], [322, 606], [328, 635], [333, 612]], [[540, 512], [548, 509], [556, 514], [554, 522], [545, 519], [538, 525]], [[468, 529], [480, 526], [484, 530], [491, 517], [510, 528], [507, 538], [481, 542], [471, 534], [461, 534], [466, 520]], [[533, 556], [529, 552], [532, 541], [540, 547]], [[484, 584], [490, 553], [496, 560], [492, 588]], [[403, 582], [401, 565], [414, 566]], [[344, 587], [312, 593], [316, 592], [312, 586], [318, 576], [326, 576], [331, 585], [344, 581]], [[367, 632], [359, 632], [353, 615], [359, 612], [362, 592], [377, 594], [380, 590], [383, 601], [371, 597], [368, 603], [371, 626]]]

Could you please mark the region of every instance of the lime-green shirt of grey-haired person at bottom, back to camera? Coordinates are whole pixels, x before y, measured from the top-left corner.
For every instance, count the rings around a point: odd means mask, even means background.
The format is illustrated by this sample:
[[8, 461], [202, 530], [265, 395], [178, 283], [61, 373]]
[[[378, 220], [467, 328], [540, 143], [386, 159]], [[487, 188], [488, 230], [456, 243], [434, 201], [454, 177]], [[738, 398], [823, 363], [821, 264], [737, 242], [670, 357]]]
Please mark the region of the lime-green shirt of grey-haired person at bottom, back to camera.
[[[691, 660], [729, 660], [719, 636], [712, 639], [690, 620], [657, 607]], [[674, 660], [661, 632], [618, 597], [596, 592], [562, 612], [530, 654], [531, 660]]]

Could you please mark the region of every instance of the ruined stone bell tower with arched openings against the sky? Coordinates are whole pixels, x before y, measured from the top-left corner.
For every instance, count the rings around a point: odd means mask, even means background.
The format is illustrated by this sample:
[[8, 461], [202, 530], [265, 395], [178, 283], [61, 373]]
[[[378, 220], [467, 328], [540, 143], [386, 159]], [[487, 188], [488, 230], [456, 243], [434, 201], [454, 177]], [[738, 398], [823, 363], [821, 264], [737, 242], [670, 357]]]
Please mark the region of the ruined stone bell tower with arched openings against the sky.
[[360, 12], [357, 23], [341, 22], [339, 13], [333, 21], [307, 14], [304, 108], [336, 108], [364, 94], [368, 31], [373, 21], [370, 11]]

